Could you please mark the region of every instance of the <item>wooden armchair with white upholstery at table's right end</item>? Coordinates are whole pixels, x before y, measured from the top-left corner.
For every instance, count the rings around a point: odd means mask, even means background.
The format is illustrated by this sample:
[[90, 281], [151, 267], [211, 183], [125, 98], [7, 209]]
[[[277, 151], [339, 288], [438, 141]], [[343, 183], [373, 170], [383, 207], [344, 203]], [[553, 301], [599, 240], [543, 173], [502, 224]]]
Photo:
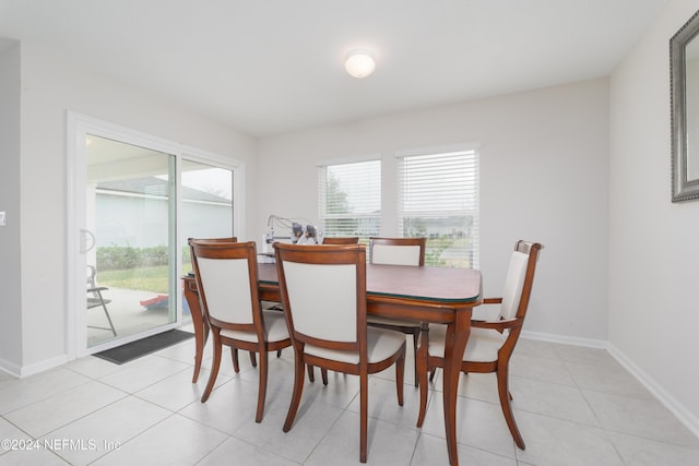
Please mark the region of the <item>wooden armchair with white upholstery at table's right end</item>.
[[[524, 440], [517, 427], [508, 387], [509, 363], [517, 340], [522, 332], [529, 299], [534, 283], [534, 271], [542, 246], [537, 242], [518, 241], [510, 258], [501, 298], [485, 298], [483, 304], [499, 304], [499, 315], [494, 321], [472, 321], [471, 334], [461, 363], [461, 371], [469, 374], [497, 373], [498, 394], [505, 420], [517, 446], [524, 450]], [[443, 368], [447, 325], [430, 324], [420, 334], [418, 362], [419, 414], [417, 427], [425, 420], [427, 407], [427, 373]], [[434, 372], [433, 372], [434, 377]], [[431, 378], [430, 378], [431, 380]]]

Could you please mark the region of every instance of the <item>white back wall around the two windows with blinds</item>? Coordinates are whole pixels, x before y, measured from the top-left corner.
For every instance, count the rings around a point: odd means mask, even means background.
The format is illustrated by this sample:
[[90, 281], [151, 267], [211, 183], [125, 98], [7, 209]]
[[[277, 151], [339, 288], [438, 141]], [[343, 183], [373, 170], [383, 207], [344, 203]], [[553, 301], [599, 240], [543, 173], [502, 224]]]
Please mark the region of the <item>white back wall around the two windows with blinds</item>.
[[[462, 142], [481, 143], [485, 295], [499, 296], [517, 239], [541, 241], [545, 249], [525, 331], [602, 345], [607, 339], [606, 79], [264, 138], [257, 238], [270, 214], [317, 220], [318, 160], [381, 154], [386, 202], [393, 192], [395, 150]], [[395, 216], [391, 205], [383, 214]], [[383, 234], [395, 234], [394, 225], [384, 225]]]

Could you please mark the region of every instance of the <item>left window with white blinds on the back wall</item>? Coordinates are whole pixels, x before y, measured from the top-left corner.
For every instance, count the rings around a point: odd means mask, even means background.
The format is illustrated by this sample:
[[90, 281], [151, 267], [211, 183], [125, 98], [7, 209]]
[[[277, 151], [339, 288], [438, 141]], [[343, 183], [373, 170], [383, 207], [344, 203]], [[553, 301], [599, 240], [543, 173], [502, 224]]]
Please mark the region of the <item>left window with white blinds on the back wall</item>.
[[324, 236], [379, 236], [381, 160], [319, 166], [318, 201]]

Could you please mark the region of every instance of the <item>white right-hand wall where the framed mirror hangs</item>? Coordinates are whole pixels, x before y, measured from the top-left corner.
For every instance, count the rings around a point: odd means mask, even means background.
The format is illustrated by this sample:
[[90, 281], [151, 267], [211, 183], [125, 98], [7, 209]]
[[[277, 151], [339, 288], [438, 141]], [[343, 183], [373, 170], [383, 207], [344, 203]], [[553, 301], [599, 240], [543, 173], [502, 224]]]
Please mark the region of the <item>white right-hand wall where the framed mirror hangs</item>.
[[611, 79], [609, 344], [699, 432], [699, 201], [671, 203], [673, 0]]

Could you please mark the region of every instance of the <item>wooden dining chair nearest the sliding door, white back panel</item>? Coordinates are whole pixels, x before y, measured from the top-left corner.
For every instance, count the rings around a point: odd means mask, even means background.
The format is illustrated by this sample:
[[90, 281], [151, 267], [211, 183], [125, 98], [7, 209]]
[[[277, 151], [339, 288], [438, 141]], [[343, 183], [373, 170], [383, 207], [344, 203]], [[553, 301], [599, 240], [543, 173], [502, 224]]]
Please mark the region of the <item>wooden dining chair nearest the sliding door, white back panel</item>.
[[222, 346], [230, 347], [234, 370], [239, 372], [238, 349], [260, 354], [258, 406], [262, 421], [268, 381], [268, 351], [292, 345], [284, 315], [263, 311], [258, 292], [254, 241], [190, 240], [192, 264], [201, 308], [213, 335], [214, 353], [209, 383], [201, 402], [209, 399], [218, 375]]

